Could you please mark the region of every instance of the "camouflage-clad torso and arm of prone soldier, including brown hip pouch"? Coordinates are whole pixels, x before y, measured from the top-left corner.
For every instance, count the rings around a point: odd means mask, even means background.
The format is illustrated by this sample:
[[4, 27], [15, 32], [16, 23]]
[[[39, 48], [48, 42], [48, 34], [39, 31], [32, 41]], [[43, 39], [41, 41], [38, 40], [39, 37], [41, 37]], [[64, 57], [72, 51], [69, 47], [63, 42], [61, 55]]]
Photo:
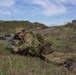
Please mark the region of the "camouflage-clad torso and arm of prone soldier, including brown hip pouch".
[[25, 52], [28, 52], [31, 55], [38, 55], [39, 53], [48, 54], [53, 51], [53, 49], [51, 49], [51, 44], [48, 41], [46, 41], [41, 35], [35, 35], [32, 32], [26, 32], [21, 38], [21, 42], [23, 44], [18, 45], [18, 47], [16, 45], [14, 52], [25, 50]]

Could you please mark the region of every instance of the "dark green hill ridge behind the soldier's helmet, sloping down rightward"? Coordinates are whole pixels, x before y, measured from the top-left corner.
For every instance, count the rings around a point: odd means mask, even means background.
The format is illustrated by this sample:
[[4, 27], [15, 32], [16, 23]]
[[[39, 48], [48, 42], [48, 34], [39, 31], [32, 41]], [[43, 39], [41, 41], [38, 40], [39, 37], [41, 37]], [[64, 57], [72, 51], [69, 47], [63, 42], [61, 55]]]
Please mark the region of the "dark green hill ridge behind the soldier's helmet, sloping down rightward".
[[12, 32], [15, 27], [22, 26], [26, 30], [32, 30], [32, 29], [42, 29], [46, 28], [44, 24], [38, 23], [38, 22], [30, 22], [30, 21], [0, 21], [0, 32]]

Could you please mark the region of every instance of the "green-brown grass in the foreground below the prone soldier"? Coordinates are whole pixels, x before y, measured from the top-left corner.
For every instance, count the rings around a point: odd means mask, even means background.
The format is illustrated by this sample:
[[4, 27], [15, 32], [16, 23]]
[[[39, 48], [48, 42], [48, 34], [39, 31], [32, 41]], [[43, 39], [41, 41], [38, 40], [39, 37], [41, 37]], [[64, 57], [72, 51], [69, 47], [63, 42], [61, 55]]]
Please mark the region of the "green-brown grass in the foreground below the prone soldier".
[[38, 57], [14, 55], [5, 49], [5, 41], [0, 44], [0, 75], [75, 75], [63, 66], [47, 63]]

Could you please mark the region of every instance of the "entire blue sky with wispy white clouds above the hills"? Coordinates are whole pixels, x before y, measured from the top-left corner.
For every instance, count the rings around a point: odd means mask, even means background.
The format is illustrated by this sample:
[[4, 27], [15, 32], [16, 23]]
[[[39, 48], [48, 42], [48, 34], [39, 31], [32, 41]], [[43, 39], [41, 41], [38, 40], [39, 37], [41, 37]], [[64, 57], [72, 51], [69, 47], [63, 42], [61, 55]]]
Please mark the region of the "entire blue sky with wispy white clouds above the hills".
[[76, 19], [76, 0], [0, 0], [0, 20], [24, 20], [54, 26], [73, 19]]

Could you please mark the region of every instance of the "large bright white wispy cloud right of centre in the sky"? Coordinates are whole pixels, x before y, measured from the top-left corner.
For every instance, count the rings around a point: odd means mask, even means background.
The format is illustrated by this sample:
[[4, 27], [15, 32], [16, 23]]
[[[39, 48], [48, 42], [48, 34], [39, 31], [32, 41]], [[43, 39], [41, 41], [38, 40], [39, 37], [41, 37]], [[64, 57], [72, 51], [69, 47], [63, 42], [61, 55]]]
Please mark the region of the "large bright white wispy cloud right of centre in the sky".
[[[46, 16], [58, 15], [66, 12], [65, 6], [56, 0], [24, 0], [33, 5], [39, 5], [41, 12]], [[38, 7], [37, 7], [38, 8]]]

